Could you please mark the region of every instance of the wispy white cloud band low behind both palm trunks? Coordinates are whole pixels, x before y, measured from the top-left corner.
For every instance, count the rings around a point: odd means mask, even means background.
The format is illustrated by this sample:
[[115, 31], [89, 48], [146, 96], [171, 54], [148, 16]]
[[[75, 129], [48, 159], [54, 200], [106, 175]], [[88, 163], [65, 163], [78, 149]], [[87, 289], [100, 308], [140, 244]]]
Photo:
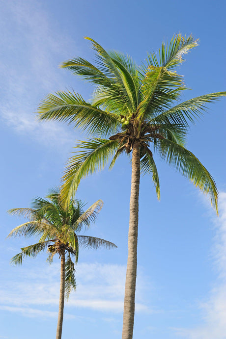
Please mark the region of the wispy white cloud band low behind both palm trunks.
[[[16, 269], [16, 268], [15, 268]], [[27, 316], [41, 316], [42, 306], [57, 306], [59, 298], [59, 267], [19, 268], [16, 280], [0, 288], [0, 309], [20, 312]], [[71, 293], [69, 308], [88, 308], [91, 310], [121, 313], [123, 311], [124, 283], [126, 267], [116, 264], [80, 263], [76, 267], [77, 290]], [[145, 293], [143, 285], [146, 278], [138, 274], [138, 295]], [[36, 308], [39, 308], [37, 310]], [[23, 311], [22, 311], [23, 310]], [[30, 311], [32, 310], [32, 311]], [[151, 312], [148, 305], [138, 299], [136, 311]], [[49, 312], [49, 311], [48, 311]], [[46, 311], [45, 316], [56, 316]]]

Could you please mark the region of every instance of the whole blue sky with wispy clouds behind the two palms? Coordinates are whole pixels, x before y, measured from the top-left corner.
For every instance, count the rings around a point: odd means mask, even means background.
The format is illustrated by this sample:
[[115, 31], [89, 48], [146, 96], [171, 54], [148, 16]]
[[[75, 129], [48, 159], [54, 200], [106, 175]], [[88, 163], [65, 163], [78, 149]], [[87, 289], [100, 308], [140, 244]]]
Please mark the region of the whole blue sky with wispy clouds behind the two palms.
[[[191, 91], [182, 101], [226, 90], [226, 5], [223, 0], [0, 0], [0, 338], [55, 338], [59, 261], [47, 254], [9, 264], [35, 239], [6, 239], [23, 222], [7, 215], [28, 207], [60, 183], [78, 130], [39, 123], [35, 110], [49, 93], [73, 88], [86, 100], [91, 86], [58, 68], [73, 56], [92, 60], [84, 36], [137, 63], [173, 33], [193, 33], [200, 45], [179, 73]], [[226, 339], [226, 99], [191, 126], [187, 148], [206, 166], [220, 191], [220, 216], [199, 191], [156, 158], [161, 202], [151, 178], [141, 178], [138, 280], [134, 339]], [[121, 337], [131, 169], [121, 157], [84, 180], [77, 197], [104, 207], [89, 235], [117, 244], [82, 250], [77, 291], [65, 304], [62, 338]]]

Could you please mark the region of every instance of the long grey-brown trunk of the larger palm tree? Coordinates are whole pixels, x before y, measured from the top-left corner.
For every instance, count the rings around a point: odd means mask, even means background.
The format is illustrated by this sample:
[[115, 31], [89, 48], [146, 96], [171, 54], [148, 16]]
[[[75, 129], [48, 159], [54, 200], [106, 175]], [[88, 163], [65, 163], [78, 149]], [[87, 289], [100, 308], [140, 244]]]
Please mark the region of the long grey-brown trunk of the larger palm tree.
[[139, 186], [140, 186], [140, 147], [139, 143], [135, 142], [133, 146], [133, 156], [132, 156], [128, 261], [126, 270], [122, 339], [133, 338], [135, 289], [137, 278]]

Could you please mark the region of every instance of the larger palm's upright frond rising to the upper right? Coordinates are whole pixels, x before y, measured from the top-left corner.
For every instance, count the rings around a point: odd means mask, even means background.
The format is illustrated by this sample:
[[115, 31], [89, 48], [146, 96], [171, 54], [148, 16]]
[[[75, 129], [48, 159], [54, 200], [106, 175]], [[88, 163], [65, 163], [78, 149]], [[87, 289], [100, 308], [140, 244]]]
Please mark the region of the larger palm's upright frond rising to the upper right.
[[159, 50], [159, 60], [155, 53], [148, 54], [147, 67], [143, 66], [143, 99], [138, 107], [139, 117], [152, 118], [178, 100], [186, 89], [182, 77], [172, 69], [182, 60], [182, 55], [198, 45], [192, 35], [183, 38], [181, 34], [172, 37], [169, 46]]

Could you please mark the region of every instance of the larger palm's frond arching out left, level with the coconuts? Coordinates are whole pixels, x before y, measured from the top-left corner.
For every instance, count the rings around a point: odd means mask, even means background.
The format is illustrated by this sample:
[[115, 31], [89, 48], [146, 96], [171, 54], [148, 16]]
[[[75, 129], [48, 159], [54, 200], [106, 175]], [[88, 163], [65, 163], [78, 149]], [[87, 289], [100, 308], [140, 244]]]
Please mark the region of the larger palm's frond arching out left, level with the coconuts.
[[74, 92], [48, 95], [39, 105], [37, 112], [39, 120], [66, 122], [92, 134], [109, 134], [120, 124], [117, 115], [85, 102]]

